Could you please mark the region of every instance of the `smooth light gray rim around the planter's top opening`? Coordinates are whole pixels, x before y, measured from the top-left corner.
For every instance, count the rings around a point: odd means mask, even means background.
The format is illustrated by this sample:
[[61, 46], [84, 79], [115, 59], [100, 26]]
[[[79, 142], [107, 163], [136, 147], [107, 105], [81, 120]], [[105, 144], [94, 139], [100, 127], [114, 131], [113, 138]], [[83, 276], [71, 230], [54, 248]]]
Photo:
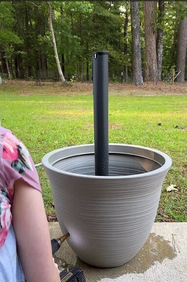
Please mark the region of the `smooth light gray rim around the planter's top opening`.
[[[171, 160], [170, 156], [168, 156], [167, 154], [165, 154], [165, 153], [163, 153], [163, 152], [161, 152], [159, 150], [152, 149], [152, 148], [149, 148], [149, 147], [143, 147], [143, 146], [139, 146], [139, 145], [130, 145], [130, 144], [109, 143], [109, 146], [110, 145], [112, 145], [112, 146], [134, 147], [134, 148], [140, 148], [140, 149], [144, 149], [144, 150], [147, 150], [147, 151], [151, 151], [151, 152], [160, 154], [162, 157], [164, 157], [165, 162], [164, 162], [164, 164], [160, 168], [155, 169], [153, 171], [146, 172], [146, 173], [141, 173], [141, 174], [135, 174], [135, 175], [124, 175], [124, 176], [95, 176], [95, 175], [77, 174], [77, 173], [72, 173], [72, 172], [67, 172], [67, 171], [60, 170], [58, 168], [55, 168], [54, 166], [52, 166], [49, 163], [49, 161], [48, 161], [49, 157], [51, 155], [57, 153], [57, 152], [67, 150], [69, 148], [79, 148], [79, 147], [86, 147], [86, 146], [94, 146], [94, 144], [83, 144], [83, 145], [68, 146], [68, 147], [64, 147], [64, 148], [53, 150], [53, 151], [51, 151], [51, 152], [49, 152], [49, 153], [47, 153], [46, 155], [43, 156], [42, 164], [47, 169], [55, 171], [55, 172], [58, 172], [60, 174], [67, 175], [67, 176], [72, 176], [72, 177], [87, 178], [87, 179], [88, 178], [89, 179], [134, 179], [134, 178], [141, 178], [141, 177], [148, 177], [148, 176], [157, 175], [159, 173], [162, 173], [164, 171], [169, 170], [169, 168], [171, 167], [172, 160]], [[114, 152], [112, 152], [112, 153], [114, 153]], [[110, 154], [110, 152], [109, 152], [109, 154]]]

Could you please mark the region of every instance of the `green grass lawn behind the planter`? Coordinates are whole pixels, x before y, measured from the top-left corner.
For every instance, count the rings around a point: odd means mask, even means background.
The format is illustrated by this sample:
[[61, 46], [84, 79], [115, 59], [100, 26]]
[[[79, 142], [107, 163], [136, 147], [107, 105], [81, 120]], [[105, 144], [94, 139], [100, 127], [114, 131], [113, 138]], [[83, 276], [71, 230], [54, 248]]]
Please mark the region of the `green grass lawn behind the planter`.
[[[124, 96], [117, 91], [109, 98], [109, 114], [111, 143], [147, 146], [171, 156], [173, 164], [164, 181], [157, 221], [186, 221], [187, 96]], [[2, 85], [0, 119], [1, 126], [24, 142], [35, 163], [54, 149], [94, 142], [90, 94], [66, 90], [59, 95], [55, 86], [28, 86], [27, 90], [25, 86], [20, 91], [18, 86]], [[54, 214], [50, 184], [42, 167], [38, 173], [50, 217]], [[171, 183], [178, 186], [178, 193], [166, 192]]]

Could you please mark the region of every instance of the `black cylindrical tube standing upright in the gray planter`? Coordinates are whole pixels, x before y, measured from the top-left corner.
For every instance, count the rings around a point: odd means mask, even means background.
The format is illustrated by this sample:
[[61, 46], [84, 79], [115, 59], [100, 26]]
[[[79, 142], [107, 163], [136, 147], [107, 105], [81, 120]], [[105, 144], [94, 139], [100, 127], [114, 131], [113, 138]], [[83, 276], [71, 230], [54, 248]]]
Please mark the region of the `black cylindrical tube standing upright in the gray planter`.
[[95, 175], [109, 174], [108, 52], [93, 53]]

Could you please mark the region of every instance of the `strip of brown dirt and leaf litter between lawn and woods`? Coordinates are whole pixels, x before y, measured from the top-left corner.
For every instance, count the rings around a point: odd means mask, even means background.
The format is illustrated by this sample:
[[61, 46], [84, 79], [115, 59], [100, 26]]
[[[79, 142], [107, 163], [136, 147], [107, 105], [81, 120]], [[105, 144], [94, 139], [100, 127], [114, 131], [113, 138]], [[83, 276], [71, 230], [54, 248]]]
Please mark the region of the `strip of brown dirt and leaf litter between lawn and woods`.
[[[14, 86], [19, 91], [17, 94], [22, 96], [30, 96], [38, 92], [39, 95], [55, 94], [65, 95], [72, 94], [92, 94], [93, 83], [91, 82], [74, 82], [73, 85], [63, 86], [61, 82], [43, 82], [38, 86], [35, 81], [26, 80], [3, 80], [3, 84]], [[28, 89], [30, 88], [30, 89]], [[142, 85], [133, 85], [127, 83], [109, 83], [109, 92], [112, 95], [184, 95], [187, 94], [187, 83], [175, 83], [174, 85], [159, 81], [157, 84], [153, 82], [144, 82]]]

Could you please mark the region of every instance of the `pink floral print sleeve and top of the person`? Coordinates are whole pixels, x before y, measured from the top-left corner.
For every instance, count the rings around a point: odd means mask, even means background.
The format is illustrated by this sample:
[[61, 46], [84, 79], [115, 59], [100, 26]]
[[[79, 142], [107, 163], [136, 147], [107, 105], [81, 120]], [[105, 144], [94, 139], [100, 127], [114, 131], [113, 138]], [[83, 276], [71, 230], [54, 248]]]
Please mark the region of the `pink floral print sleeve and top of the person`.
[[0, 248], [12, 221], [14, 182], [20, 178], [41, 191], [38, 174], [28, 150], [11, 131], [0, 127]]

